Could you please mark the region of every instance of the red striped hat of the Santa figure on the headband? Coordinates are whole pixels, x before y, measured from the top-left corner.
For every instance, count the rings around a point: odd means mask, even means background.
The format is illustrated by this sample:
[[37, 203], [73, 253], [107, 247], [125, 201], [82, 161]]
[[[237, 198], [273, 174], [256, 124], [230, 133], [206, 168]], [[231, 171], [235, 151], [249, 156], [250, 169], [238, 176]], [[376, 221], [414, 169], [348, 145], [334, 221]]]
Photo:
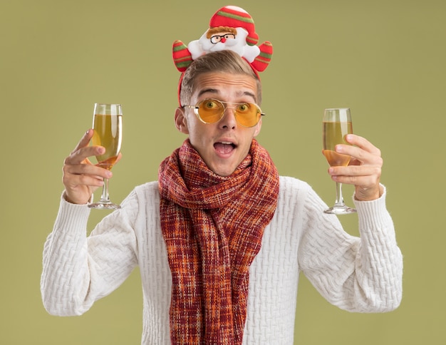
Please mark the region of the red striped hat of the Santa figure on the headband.
[[254, 28], [254, 20], [247, 11], [237, 6], [225, 6], [215, 12], [209, 21], [209, 28], [229, 26], [230, 28], [243, 28], [248, 31], [247, 44], [254, 46], [259, 36]]

